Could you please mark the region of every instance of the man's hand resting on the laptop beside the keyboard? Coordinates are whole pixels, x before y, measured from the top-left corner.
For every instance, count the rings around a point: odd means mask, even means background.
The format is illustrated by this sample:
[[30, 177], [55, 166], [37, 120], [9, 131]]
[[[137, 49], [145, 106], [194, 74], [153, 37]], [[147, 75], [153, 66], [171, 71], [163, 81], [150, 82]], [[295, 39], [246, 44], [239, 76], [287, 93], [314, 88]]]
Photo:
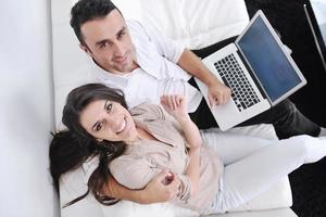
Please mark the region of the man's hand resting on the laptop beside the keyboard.
[[210, 106], [222, 105], [229, 101], [231, 89], [226, 87], [221, 81], [214, 81], [208, 86]]

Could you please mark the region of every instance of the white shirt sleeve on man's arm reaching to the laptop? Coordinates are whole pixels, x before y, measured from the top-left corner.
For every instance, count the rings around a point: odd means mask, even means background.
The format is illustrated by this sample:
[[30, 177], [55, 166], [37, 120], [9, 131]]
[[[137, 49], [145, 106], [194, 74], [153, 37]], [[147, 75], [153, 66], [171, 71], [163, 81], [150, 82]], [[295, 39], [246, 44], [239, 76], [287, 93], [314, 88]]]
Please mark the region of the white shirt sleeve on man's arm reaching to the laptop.
[[158, 52], [165, 56], [167, 60], [177, 63], [185, 51], [185, 46], [181, 42], [177, 42], [160, 33], [154, 26], [150, 24], [140, 24], [143, 33], [152, 41]]

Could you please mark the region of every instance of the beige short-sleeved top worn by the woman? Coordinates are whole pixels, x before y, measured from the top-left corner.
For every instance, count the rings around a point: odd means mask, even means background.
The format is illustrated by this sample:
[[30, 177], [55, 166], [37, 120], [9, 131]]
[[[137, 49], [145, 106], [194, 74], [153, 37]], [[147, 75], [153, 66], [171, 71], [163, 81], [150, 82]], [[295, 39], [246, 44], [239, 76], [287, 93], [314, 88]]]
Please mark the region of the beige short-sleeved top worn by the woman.
[[190, 196], [191, 182], [185, 176], [189, 157], [187, 142], [177, 122], [161, 106], [143, 103], [130, 113], [137, 126], [155, 140], [141, 140], [128, 145], [126, 152], [110, 164], [114, 178], [129, 189], [142, 189], [163, 168], [168, 168], [181, 180], [177, 205], [201, 210], [208, 207], [218, 191], [223, 165], [220, 157], [205, 144], [201, 149], [200, 182]]

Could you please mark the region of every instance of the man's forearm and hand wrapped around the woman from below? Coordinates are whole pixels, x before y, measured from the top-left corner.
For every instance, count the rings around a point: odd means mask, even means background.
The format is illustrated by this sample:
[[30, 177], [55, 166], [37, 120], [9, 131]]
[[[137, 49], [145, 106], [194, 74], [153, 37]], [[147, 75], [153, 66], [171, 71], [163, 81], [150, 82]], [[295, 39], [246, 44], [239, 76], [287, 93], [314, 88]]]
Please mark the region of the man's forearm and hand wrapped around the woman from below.
[[[173, 177], [173, 179], [171, 179]], [[166, 182], [168, 180], [168, 182]], [[133, 201], [140, 204], [162, 203], [175, 199], [180, 186], [179, 179], [163, 170], [141, 190], [130, 190], [110, 178], [103, 193], [110, 197]]]

